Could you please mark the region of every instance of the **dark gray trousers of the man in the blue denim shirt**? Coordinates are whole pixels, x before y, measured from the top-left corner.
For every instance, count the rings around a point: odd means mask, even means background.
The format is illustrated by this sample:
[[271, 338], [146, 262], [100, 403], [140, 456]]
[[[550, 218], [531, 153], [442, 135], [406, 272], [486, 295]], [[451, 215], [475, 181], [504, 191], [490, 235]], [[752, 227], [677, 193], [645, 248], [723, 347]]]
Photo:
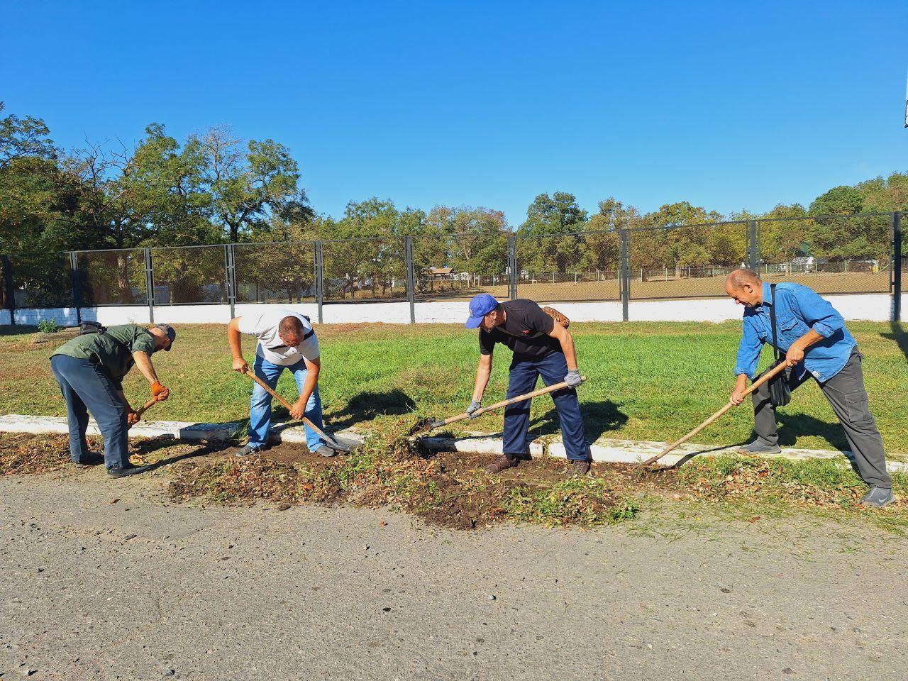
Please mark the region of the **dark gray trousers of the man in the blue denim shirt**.
[[[817, 382], [845, 430], [845, 438], [854, 452], [854, 463], [861, 478], [871, 487], [892, 489], [893, 481], [886, 472], [883, 438], [876, 429], [876, 422], [867, 404], [864, 372], [861, 370], [862, 360], [864, 355], [854, 348], [843, 370], [830, 380]], [[803, 378], [797, 379], [790, 369], [785, 370], [785, 376], [792, 390], [804, 381], [814, 378], [809, 373], [804, 373]], [[754, 430], [757, 437], [767, 445], [778, 445], [779, 431], [775, 423], [775, 407], [769, 400], [769, 384], [764, 383], [760, 386], [752, 399]]]

